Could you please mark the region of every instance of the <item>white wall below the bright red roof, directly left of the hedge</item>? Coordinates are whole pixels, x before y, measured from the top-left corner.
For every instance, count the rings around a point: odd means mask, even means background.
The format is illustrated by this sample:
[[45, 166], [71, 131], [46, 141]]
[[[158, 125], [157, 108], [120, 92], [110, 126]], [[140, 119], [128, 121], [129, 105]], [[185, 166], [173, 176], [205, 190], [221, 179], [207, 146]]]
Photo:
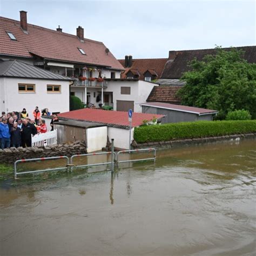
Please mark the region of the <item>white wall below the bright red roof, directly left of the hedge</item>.
[[[131, 130], [131, 142], [133, 140], [133, 132], [134, 128]], [[119, 147], [120, 149], [129, 149], [130, 130], [108, 127], [107, 136], [109, 136], [110, 142], [111, 139], [114, 139], [114, 147]]]

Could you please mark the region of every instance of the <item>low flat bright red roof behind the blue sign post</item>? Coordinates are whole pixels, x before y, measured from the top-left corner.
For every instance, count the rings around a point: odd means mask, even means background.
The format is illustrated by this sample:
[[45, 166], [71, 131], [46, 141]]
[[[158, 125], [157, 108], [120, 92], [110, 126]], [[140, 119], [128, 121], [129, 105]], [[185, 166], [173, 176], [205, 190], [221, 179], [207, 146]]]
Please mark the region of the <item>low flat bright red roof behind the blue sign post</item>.
[[[107, 124], [111, 127], [118, 127], [122, 129], [129, 129], [130, 123], [128, 120], [128, 113], [123, 111], [107, 111], [100, 109], [79, 109], [70, 112], [58, 114], [60, 119], [75, 119], [87, 122], [97, 122]], [[146, 114], [133, 113], [132, 127], [140, 126], [144, 120], [150, 121], [154, 118], [162, 118], [163, 114]]]

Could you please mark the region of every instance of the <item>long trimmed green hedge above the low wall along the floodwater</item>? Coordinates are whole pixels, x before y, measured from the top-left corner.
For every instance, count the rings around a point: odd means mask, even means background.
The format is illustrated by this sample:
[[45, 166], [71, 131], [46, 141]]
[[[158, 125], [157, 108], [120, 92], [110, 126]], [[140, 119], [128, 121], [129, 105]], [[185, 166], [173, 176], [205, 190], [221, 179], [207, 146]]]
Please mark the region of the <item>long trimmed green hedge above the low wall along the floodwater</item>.
[[137, 143], [256, 132], [256, 120], [184, 122], [136, 127]]

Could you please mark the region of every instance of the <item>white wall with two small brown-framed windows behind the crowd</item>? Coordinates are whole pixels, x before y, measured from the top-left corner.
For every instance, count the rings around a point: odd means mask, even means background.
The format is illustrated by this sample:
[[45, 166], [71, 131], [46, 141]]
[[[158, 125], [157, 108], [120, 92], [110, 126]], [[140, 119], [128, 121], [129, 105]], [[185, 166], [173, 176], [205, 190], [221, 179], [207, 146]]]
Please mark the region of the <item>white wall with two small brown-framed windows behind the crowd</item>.
[[[25, 107], [29, 117], [33, 117], [32, 112], [35, 106], [39, 110], [47, 107], [50, 112], [69, 111], [69, 81], [28, 79], [28, 78], [1, 78], [4, 79], [4, 94], [1, 93], [0, 101], [4, 103], [2, 111], [22, 111]], [[35, 84], [35, 92], [18, 92], [18, 84]], [[47, 85], [61, 85], [60, 93], [47, 93]], [[2, 87], [2, 86], [1, 86]], [[2, 92], [2, 91], [1, 91]]]

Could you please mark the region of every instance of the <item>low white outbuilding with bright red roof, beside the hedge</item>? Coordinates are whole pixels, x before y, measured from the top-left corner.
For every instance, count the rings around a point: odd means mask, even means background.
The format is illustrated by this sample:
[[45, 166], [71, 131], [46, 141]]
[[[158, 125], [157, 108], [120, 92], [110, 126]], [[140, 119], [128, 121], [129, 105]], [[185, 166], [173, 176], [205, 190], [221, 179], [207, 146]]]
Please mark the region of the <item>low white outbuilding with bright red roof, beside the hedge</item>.
[[[80, 109], [70, 112], [60, 113], [58, 115], [60, 121], [73, 120], [80, 122], [91, 122], [97, 124], [104, 124], [107, 126], [107, 136], [109, 140], [114, 139], [114, 146], [120, 149], [129, 149], [129, 144], [133, 140], [134, 127], [151, 123], [154, 119], [158, 122], [164, 117], [163, 114], [151, 113], [132, 113], [131, 122], [131, 141], [130, 136], [130, 122], [128, 112], [124, 111], [107, 111], [100, 109]], [[61, 122], [60, 122], [61, 123]], [[58, 124], [59, 125], [59, 124]], [[90, 138], [89, 138], [90, 139]], [[105, 145], [107, 144], [107, 137], [105, 138]]]

